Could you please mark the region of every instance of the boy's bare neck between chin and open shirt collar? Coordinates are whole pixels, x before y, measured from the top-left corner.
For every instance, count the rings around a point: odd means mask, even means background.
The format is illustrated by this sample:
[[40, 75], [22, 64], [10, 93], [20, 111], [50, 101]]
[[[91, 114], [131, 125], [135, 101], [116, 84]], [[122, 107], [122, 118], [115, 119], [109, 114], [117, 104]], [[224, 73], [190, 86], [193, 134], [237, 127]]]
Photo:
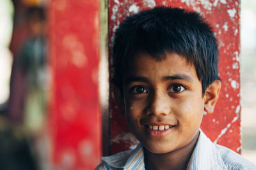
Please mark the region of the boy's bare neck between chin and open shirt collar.
[[187, 169], [189, 159], [193, 153], [199, 131], [195, 138], [186, 146], [168, 153], [152, 153], [144, 148], [145, 168], [150, 169]]

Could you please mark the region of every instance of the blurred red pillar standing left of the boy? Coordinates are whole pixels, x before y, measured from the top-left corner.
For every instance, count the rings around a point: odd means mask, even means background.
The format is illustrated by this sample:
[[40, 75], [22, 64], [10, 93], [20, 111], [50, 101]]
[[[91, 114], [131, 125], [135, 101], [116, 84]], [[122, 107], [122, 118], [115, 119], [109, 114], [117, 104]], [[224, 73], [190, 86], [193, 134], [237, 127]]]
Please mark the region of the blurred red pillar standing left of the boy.
[[93, 169], [101, 157], [98, 95], [99, 1], [49, 6], [53, 169]]

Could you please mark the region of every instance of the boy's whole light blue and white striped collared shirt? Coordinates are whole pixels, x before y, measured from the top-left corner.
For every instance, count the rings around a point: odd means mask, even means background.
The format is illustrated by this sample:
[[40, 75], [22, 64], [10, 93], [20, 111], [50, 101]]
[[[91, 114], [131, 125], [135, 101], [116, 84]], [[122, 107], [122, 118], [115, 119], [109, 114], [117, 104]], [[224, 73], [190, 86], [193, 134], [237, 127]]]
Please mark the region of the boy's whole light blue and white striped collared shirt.
[[[143, 146], [140, 143], [134, 150], [102, 157], [102, 164], [96, 169], [145, 169]], [[212, 143], [200, 130], [198, 141], [187, 167], [187, 170], [195, 169], [256, 170], [256, 165], [236, 152]]]

